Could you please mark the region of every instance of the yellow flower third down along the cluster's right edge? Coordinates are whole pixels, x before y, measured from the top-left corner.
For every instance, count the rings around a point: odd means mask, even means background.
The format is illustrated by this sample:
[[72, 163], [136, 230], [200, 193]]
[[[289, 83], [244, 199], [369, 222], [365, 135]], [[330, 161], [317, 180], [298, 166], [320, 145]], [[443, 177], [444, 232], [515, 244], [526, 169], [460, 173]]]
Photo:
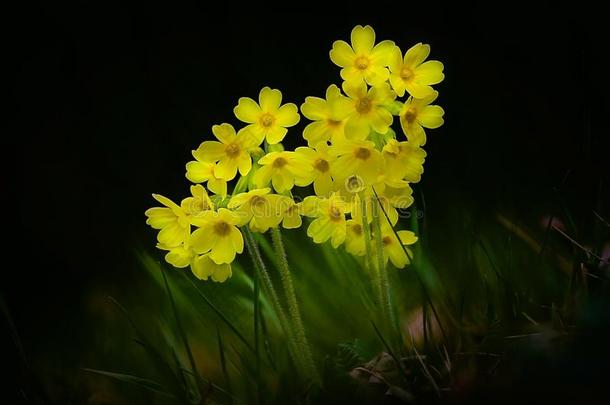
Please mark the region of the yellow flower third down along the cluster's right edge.
[[398, 186], [402, 181], [417, 183], [421, 180], [426, 152], [419, 145], [390, 139], [383, 147], [382, 154], [386, 184]]

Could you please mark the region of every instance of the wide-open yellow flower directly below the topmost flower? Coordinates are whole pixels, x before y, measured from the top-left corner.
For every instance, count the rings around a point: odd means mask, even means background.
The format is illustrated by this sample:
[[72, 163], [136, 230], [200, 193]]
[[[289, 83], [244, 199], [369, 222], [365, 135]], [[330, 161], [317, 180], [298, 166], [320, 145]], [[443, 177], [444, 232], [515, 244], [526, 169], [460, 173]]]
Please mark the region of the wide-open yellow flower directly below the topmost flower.
[[351, 113], [345, 123], [345, 137], [347, 139], [364, 140], [371, 129], [385, 134], [392, 124], [392, 114], [384, 108], [396, 98], [396, 94], [387, 83], [371, 87], [368, 91], [366, 84], [343, 83], [343, 91], [350, 98]]

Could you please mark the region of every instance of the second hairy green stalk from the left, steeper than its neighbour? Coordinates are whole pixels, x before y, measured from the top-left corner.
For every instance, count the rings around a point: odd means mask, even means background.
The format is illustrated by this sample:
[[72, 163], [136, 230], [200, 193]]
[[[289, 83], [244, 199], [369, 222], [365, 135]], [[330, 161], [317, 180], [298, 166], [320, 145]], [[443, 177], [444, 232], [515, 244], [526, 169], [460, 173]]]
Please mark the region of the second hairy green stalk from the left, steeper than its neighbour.
[[282, 280], [284, 294], [286, 295], [286, 301], [288, 303], [288, 312], [292, 321], [292, 327], [294, 328], [293, 332], [296, 337], [296, 343], [305, 360], [305, 371], [309, 378], [313, 379], [316, 383], [319, 383], [320, 377], [318, 376], [318, 372], [311, 355], [311, 349], [309, 348], [309, 343], [307, 342], [307, 336], [305, 335], [305, 328], [303, 327], [303, 320], [301, 319], [301, 313], [299, 311], [299, 303], [294, 291], [294, 285], [290, 275], [290, 267], [288, 266], [288, 259], [286, 257], [286, 249], [284, 248], [282, 233], [279, 228], [271, 229], [271, 239], [273, 240], [273, 246], [275, 247], [275, 252], [279, 259], [278, 268], [280, 271], [280, 278]]

